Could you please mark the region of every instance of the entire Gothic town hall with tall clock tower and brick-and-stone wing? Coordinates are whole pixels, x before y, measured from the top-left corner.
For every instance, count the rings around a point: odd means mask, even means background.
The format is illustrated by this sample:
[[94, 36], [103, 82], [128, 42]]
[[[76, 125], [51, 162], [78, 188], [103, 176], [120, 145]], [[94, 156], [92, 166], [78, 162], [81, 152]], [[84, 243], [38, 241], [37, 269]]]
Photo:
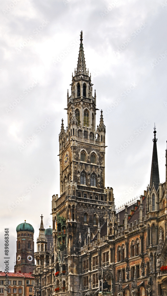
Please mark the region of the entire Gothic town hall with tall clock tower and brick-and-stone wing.
[[167, 295], [167, 185], [159, 182], [156, 130], [150, 184], [140, 200], [118, 213], [113, 189], [105, 187], [105, 125], [101, 111], [96, 128], [92, 86], [81, 32], [71, 94], [67, 92], [67, 127], [62, 119], [59, 134], [60, 196], [52, 196], [53, 246], [47, 246], [41, 216], [34, 294]]

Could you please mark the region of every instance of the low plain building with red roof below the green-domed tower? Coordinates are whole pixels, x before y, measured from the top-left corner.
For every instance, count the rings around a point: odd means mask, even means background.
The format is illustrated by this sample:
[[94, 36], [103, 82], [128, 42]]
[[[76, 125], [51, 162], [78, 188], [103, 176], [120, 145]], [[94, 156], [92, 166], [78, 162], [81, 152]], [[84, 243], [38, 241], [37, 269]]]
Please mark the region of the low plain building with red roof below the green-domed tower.
[[[0, 295], [2, 296], [33, 296], [35, 283], [32, 273], [21, 274], [19, 272], [9, 272], [8, 280], [6, 274], [0, 271]], [[6, 285], [9, 287], [6, 288]]]

